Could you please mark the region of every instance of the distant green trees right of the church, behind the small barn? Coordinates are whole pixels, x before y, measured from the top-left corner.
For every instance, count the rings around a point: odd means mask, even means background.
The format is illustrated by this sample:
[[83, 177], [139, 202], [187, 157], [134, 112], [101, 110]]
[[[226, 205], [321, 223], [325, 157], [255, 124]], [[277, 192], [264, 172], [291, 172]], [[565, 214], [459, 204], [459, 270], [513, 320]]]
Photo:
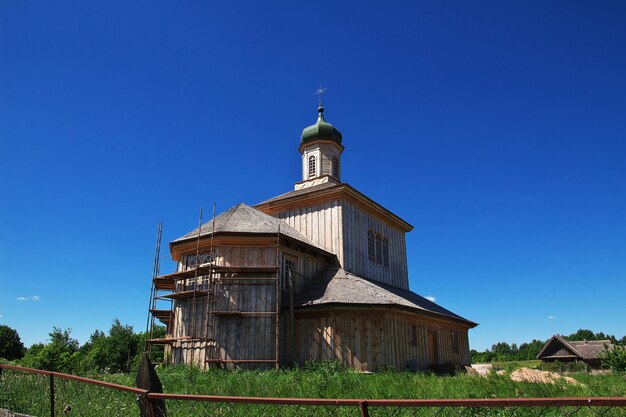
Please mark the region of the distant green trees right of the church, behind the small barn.
[[[613, 335], [604, 334], [603, 332], [594, 333], [588, 329], [580, 329], [569, 336], [563, 336], [563, 338], [571, 341], [610, 340], [613, 344], [626, 345], [626, 336], [617, 340]], [[472, 363], [532, 360], [537, 358], [546, 342], [547, 340], [533, 339], [532, 342], [522, 343], [519, 346], [515, 343], [500, 342], [492, 345], [491, 349], [487, 349], [484, 352], [472, 349], [470, 350], [470, 357]]]

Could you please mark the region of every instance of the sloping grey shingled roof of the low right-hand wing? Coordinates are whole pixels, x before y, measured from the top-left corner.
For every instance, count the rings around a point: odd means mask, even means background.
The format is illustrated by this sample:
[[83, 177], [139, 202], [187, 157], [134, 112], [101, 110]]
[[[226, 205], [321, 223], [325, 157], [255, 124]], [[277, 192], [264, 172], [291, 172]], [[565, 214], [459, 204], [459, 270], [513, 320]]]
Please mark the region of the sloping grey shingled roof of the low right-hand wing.
[[476, 323], [458, 316], [412, 291], [371, 281], [336, 267], [324, 269], [317, 277], [308, 282], [294, 303], [297, 307], [331, 304], [397, 306], [427, 314], [445, 316], [471, 327], [477, 326]]

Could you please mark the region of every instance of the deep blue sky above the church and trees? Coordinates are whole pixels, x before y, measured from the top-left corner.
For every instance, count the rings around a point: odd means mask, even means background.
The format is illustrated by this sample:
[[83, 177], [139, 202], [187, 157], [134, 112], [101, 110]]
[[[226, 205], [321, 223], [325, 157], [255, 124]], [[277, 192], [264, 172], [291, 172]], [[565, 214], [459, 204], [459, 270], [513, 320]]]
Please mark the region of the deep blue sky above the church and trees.
[[300, 180], [415, 226], [411, 289], [479, 350], [626, 334], [626, 3], [1, 2], [0, 323], [145, 328], [156, 227]]

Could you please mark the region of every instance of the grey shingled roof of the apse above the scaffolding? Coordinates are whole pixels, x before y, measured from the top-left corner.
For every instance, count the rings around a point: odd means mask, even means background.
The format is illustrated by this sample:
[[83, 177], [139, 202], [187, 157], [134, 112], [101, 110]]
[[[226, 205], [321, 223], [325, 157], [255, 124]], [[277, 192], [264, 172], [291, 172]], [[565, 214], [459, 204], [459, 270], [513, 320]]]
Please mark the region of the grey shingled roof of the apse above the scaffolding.
[[[215, 217], [215, 234], [219, 233], [245, 233], [245, 234], [259, 234], [268, 235], [278, 233], [280, 226], [280, 234], [300, 241], [306, 245], [323, 250], [329, 253], [321, 246], [315, 244], [311, 239], [298, 232], [287, 223], [265, 214], [247, 204], [240, 203], [219, 216]], [[179, 237], [172, 241], [172, 243], [180, 243], [188, 241], [198, 237], [200, 228], [195, 228], [185, 236]], [[213, 233], [212, 220], [202, 225], [201, 236], [210, 236]]]

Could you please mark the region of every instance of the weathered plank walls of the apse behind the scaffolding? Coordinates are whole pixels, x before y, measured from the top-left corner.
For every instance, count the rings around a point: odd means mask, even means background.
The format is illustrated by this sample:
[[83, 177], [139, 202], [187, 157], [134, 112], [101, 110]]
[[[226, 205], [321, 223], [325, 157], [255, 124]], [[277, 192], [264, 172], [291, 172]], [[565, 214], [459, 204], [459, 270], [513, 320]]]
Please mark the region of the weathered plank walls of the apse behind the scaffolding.
[[[217, 266], [275, 266], [277, 265], [276, 247], [214, 247], [215, 263]], [[202, 258], [203, 251], [200, 251]], [[178, 270], [187, 269], [188, 256], [193, 259], [195, 251], [182, 253]], [[283, 242], [278, 254], [279, 285], [285, 288], [283, 279], [283, 259], [289, 256], [297, 262], [294, 276], [297, 294], [305, 284], [307, 278], [315, 276], [326, 265], [326, 259], [315, 255], [310, 250]], [[226, 274], [226, 276], [228, 276]], [[267, 276], [260, 274], [259, 276]], [[217, 275], [219, 277], [219, 275]], [[208, 289], [208, 277], [199, 277], [199, 289]], [[276, 288], [273, 282], [256, 285], [227, 284], [223, 281], [217, 287], [212, 301], [212, 311], [220, 312], [274, 312], [276, 310]], [[236, 281], [235, 281], [236, 282]], [[193, 288], [193, 279], [179, 282], [179, 287]], [[282, 294], [281, 304], [289, 302], [286, 291]], [[195, 307], [194, 307], [195, 306]], [[207, 334], [208, 303], [206, 297], [197, 298], [194, 303], [191, 299], [175, 301], [175, 320], [172, 334], [168, 337], [199, 338], [215, 340], [219, 348], [218, 357], [223, 360], [262, 359], [273, 360], [276, 355], [276, 325], [275, 317], [247, 317], [243, 316], [216, 316], [215, 330]], [[280, 335], [281, 339], [284, 335]], [[179, 340], [173, 343], [170, 350], [171, 360], [175, 364], [195, 364], [206, 369], [206, 343], [201, 341]], [[209, 342], [211, 343], [211, 342]], [[246, 368], [267, 368], [273, 364], [246, 364], [238, 365]], [[226, 365], [234, 368], [236, 365]]]

